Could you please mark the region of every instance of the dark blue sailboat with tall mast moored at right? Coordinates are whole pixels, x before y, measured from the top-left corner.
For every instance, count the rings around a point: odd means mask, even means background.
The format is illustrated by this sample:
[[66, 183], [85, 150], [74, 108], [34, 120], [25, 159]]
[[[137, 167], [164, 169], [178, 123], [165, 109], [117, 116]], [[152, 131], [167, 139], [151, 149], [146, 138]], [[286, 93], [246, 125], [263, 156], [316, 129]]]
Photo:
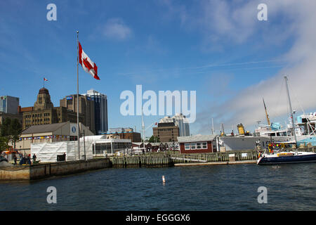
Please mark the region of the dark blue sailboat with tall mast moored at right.
[[[294, 124], [293, 110], [291, 106], [291, 99], [289, 96], [289, 87], [287, 76], [284, 76], [285, 84], [287, 88], [287, 97], [289, 100], [289, 109], [291, 112], [291, 122]], [[297, 146], [297, 138], [295, 127], [291, 128], [291, 132], [294, 135], [295, 144]], [[280, 164], [280, 163], [294, 163], [294, 162], [316, 162], [316, 153], [312, 152], [299, 152], [296, 150], [292, 151], [275, 151], [274, 153], [263, 153], [259, 155], [257, 165], [265, 164]]]

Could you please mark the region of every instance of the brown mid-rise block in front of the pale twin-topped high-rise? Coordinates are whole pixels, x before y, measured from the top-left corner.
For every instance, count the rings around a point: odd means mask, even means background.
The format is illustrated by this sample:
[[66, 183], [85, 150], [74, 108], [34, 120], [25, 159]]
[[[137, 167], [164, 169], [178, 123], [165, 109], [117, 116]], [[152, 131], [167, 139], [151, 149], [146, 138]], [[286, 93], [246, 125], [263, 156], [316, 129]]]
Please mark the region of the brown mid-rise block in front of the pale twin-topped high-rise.
[[159, 122], [157, 127], [152, 127], [152, 131], [161, 142], [176, 142], [179, 136], [179, 127], [174, 122]]

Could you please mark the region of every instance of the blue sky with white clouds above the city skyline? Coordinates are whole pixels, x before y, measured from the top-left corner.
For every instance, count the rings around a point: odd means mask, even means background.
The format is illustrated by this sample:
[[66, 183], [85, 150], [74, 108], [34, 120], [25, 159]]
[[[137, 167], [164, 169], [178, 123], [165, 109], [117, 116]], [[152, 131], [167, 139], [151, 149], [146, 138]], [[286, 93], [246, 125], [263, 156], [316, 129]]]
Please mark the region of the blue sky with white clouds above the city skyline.
[[[46, 6], [57, 6], [48, 21]], [[108, 98], [109, 126], [140, 130], [140, 116], [121, 115], [122, 91], [197, 91], [192, 134], [240, 122], [253, 129], [284, 121], [282, 75], [289, 75], [294, 108], [315, 111], [315, 3], [265, 1], [268, 21], [257, 19], [261, 1], [1, 1], [0, 95], [32, 106], [43, 77], [51, 100], [77, 93], [77, 34], [100, 81], [79, 68], [79, 92]], [[314, 20], [315, 21], [315, 20]], [[300, 83], [301, 81], [304, 84]], [[307, 86], [306, 86], [307, 85]], [[145, 117], [146, 127], [162, 116]], [[146, 136], [152, 135], [152, 129]]]

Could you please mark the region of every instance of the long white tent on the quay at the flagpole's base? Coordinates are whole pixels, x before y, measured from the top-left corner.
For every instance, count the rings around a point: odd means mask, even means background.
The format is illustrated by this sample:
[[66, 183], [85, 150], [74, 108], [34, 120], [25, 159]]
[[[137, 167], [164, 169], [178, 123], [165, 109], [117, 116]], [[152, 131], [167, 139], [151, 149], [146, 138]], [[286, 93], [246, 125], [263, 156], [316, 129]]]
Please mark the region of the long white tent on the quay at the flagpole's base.
[[[86, 160], [92, 159], [92, 142], [80, 141], [81, 160], [84, 160], [86, 152]], [[58, 141], [53, 143], [32, 143], [31, 157], [33, 154], [37, 156], [37, 160], [41, 162], [57, 162], [57, 155], [66, 154], [67, 161], [79, 160], [78, 142], [77, 141]]]

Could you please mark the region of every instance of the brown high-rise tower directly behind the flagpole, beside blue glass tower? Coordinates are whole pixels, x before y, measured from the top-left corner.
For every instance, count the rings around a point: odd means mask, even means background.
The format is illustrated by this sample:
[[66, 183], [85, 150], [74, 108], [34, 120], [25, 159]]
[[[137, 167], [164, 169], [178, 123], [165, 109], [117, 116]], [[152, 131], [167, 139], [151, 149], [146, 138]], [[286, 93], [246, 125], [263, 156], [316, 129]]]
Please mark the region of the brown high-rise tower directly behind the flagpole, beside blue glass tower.
[[[77, 94], [60, 99], [60, 107], [77, 113]], [[79, 95], [79, 114], [84, 115], [84, 125], [96, 134], [94, 101], [89, 96]]]

